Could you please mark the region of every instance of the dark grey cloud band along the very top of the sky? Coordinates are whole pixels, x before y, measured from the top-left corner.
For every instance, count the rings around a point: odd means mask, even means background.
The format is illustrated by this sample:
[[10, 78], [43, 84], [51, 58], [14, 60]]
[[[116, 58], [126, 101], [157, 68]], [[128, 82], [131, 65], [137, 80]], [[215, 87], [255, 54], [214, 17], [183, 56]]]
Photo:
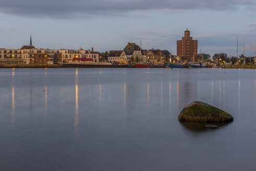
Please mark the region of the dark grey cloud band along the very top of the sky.
[[254, 0], [1, 0], [0, 13], [25, 17], [91, 18], [95, 16], [126, 16], [131, 11], [162, 11], [163, 13], [194, 12], [201, 9], [235, 10], [248, 8]]

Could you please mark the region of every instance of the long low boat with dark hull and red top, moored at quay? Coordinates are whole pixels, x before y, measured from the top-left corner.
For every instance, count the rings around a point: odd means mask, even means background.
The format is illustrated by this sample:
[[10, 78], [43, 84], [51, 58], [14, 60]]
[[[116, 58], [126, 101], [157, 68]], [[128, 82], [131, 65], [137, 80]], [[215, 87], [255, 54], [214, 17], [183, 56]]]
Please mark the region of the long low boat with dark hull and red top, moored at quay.
[[128, 65], [113, 65], [112, 63], [95, 63], [92, 58], [73, 58], [68, 63], [58, 63], [60, 67], [127, 67]]

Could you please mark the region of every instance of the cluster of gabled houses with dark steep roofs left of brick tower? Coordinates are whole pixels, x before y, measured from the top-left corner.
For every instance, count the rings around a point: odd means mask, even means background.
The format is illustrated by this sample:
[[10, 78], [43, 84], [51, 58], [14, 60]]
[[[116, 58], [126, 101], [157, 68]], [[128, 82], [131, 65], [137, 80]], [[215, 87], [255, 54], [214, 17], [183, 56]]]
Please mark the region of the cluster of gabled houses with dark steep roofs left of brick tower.
[[151, 63], [164, 64], [168, 62], [171, 54], [167, 50], [154, 49], [142, 50], [135, 43], [129, 43], [124, 50], [109, 51], [107, 60], [112, 63]]

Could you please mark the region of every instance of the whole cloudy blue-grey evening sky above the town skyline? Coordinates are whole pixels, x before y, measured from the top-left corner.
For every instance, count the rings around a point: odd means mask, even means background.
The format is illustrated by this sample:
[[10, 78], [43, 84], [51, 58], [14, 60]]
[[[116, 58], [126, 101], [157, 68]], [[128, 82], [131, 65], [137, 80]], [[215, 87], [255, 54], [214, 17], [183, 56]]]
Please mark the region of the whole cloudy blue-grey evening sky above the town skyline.
[[176, 54], [188, 28], [198, 53], [254, 56], [255, 0], [0, 0], [0, 48], [142, 49]]

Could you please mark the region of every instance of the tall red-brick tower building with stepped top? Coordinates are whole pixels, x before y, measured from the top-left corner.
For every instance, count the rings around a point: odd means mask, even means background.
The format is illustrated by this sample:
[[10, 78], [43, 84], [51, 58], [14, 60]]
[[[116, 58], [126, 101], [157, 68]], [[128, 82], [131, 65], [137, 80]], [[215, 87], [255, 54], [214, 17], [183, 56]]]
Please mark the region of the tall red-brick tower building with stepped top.
[[177, 41], [177, 55], [181, 57], [181, 60], [189, 62], [192, 61], [193, 56], [197, 56], [197, 52], [198, 41], [190, 37], [190, 31], [187, 29], [182, 40]]

